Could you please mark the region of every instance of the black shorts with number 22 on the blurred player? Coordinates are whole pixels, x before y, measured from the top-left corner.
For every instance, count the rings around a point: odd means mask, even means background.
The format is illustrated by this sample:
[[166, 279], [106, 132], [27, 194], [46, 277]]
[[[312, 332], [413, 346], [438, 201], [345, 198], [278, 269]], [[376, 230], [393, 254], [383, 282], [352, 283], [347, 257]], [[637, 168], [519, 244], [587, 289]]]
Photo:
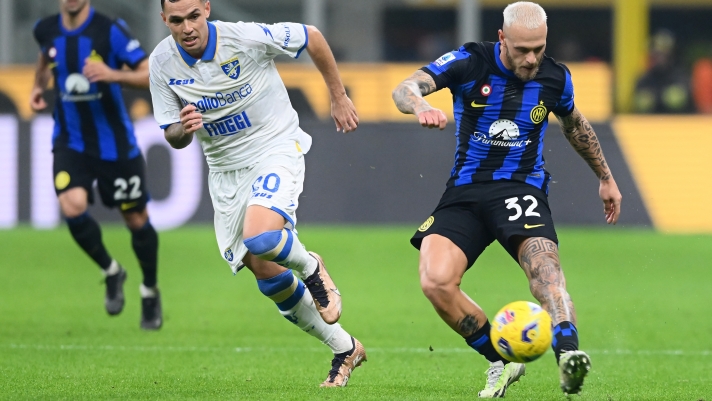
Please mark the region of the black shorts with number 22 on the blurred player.
[[81, 187], [94, 203], [97, 181], [101, 202], [122, 212], [143, 211], [150, 199], [146, 189], [146, 162], [142, 155], [130, 160], [106, 161], [70, 149], [54, 149], [54, 190]]

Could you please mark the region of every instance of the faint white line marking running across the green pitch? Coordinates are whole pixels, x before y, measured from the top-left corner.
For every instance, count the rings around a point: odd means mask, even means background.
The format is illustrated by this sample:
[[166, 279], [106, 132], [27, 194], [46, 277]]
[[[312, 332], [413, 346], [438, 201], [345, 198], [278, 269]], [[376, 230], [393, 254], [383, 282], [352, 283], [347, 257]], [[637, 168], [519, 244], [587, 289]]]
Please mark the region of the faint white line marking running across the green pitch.
[[[288, 347], [173, 347], [173, 346], [141, 346], [141, 345], [82, 345], [82, 344], [0, 344], [0, 348], [27, 349], [35, 351], [115, 351], [115, 352], [320, 352], [325, 348], [288, 348]], [[591, 355], [667, 355], [667, 356], [710, 356], [712, 351], [684, 351], [684, 350], [585, 350]], [[469, 348], [368, 348], [368, 352], [384, 354], [427, 354], [445, 353], [460, 354], [473, 353]]]

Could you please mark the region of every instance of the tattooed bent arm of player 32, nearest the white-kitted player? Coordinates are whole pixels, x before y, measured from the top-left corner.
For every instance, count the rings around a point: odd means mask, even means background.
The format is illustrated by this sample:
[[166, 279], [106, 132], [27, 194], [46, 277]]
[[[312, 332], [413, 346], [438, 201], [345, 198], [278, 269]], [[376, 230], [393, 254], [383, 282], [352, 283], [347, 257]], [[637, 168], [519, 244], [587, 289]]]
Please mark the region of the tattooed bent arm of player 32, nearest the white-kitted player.
[[423, 99], [436, 90], [433, 78], [423, 71], [416, 71], [393, 90], [393, 101], [403, 114], [415, 114], [423, 127], [445, 129], [447, 117], [442, 110], [433, 108]]

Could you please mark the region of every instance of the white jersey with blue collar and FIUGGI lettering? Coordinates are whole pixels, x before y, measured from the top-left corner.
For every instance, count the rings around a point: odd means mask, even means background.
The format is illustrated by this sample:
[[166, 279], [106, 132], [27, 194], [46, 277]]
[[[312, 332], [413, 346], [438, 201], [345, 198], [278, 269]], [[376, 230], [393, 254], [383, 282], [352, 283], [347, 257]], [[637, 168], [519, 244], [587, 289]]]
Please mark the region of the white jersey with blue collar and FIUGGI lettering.
[[195, 134], [213, 171], [247, 167], [295, 147], [306, 153], [311, 137], [299, 128], [273, 61], [280, 54], [299, 57], [309, 42], [306, 27], [215, 21], [208, 28], [200, 59], [170, 36], [151, 53], [151, 97], [161, 128], [179, 123], [180, 111], [194, 105], [204, 125]]

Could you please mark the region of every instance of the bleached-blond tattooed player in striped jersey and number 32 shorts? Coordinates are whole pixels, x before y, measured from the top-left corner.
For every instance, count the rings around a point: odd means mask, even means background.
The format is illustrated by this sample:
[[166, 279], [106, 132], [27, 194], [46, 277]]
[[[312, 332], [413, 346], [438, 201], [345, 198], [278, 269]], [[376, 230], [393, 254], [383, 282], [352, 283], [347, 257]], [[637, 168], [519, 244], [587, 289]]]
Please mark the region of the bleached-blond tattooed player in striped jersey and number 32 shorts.
[[499, 42], [467, 43], [423, 67], [393, 92], [398, 109], [424, 127], [444, 129], [445, 114], [423, 96], [450, 88], [457, 123], [455, 166], [440, 203], [411, 239], [420, 250], [420, 282], [440, 317], [490, 361], [482, 398], [504, 397], [524, 374], [490, 342], [484, 311], [459, 288], [495, 239], [522, 267], [532, 295], [551, 315], [561, 389], [578, 393], [590, 359], [578, 350], [574, 305], [558, 255], [542, 155], [548, 115], [599, 179], [607, 223], [621, 194], [591, 125], [574, 106], [568, 69], [544, 55], [546, 13], [535, 3], [504, 10]]

